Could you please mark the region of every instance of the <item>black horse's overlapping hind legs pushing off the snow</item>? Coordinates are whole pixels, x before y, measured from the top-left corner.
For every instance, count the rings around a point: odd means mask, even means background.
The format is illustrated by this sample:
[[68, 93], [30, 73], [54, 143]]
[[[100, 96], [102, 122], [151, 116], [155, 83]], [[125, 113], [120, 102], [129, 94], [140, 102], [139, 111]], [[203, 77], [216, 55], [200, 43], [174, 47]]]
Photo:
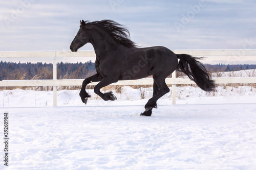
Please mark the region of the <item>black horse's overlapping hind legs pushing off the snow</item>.
[[165, 83], [165, 78], [155, 78], [154, 85], [155, 85], [155, 88], [153, 87], [154, 88], [153, 98], [148, 100], [148, 102], [145, 105], [145, 112], [141, 113], [140, 114], [141, 116], [151, 116], [152, 109], [157, 107], [157, 100], [161, 98], [164, 94], [170, 91], [170, 89]]

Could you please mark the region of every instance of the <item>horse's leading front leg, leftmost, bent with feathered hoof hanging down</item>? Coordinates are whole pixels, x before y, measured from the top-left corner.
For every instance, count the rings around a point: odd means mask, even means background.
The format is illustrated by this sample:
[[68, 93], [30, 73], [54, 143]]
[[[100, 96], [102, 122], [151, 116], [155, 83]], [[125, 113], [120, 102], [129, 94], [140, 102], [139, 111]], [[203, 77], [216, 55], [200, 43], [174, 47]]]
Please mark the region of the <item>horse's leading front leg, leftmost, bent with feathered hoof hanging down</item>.
[[86, 92], [86, 86], [89, 84], [89, 83], [92, 83], [92, 82], [99, 82], [103, 79], [103, 77], [99, 74], [96, 74], [96, 75], [93, 75], [87, 79], [84, 79], [84, 81], [82, 82], [82, 87], [81, 87], [81, 90], [80, 90], [80, 97], [81, 97], [81, 100], [83, 103], [87, 104], [87, 100], [88, 98], [91, 97], [91, 95]]

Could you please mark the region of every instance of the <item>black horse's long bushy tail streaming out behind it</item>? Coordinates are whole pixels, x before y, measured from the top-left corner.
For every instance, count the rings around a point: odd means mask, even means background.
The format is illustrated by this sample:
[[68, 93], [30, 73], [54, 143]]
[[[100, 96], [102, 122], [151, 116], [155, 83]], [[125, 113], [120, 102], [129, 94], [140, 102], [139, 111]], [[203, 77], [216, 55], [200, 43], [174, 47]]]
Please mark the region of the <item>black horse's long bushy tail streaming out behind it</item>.
[[192, 57], [187, 54], [176, 54], [180, 59], [178, 63], [178, 71], [184, 72], [190, 80], [205, 91], [212, 91], [215, 88], [214, 80], [211, 80], [211, 75], [207, 72], [204, 65], [197, 61], [200, 57]]

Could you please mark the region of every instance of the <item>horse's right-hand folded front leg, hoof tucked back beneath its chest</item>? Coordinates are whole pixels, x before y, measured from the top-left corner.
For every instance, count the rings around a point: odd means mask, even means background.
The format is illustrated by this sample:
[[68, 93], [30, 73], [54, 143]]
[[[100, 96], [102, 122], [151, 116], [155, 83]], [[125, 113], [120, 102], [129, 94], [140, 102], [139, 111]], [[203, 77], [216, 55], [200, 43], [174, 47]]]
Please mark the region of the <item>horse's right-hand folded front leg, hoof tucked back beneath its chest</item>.
[[107, 93], [100, 92], [100, 89], [102, 87], [108, 86], [111, 83], [115, 83], [117, 81], [118, 81], [118, 79], [113, 79], [113, 78], [110, 78], [110, 77], [105, 77], [94, 87], [94, 92], [96, 94], [98, 94], [104, 101], [109, 101], [109, 100], [114, 101], [114, 100], [117, 100], [116, 96], [112, 92], [107, 92]]

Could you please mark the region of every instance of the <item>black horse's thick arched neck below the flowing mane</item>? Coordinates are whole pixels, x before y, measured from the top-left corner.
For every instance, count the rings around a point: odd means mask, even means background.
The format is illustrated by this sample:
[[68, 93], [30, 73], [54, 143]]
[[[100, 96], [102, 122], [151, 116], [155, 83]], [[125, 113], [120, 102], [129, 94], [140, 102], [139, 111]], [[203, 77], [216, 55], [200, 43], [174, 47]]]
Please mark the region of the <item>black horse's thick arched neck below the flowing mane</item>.
[[118, 48], [118, 44], [114, 39], [108, 33], [104, 33], [104, 31], [97, 29], [92, 31], [91, 35], [91, 44], [94, 47], [98, 60], [104, 59], [107, 57], [106, 54]]

